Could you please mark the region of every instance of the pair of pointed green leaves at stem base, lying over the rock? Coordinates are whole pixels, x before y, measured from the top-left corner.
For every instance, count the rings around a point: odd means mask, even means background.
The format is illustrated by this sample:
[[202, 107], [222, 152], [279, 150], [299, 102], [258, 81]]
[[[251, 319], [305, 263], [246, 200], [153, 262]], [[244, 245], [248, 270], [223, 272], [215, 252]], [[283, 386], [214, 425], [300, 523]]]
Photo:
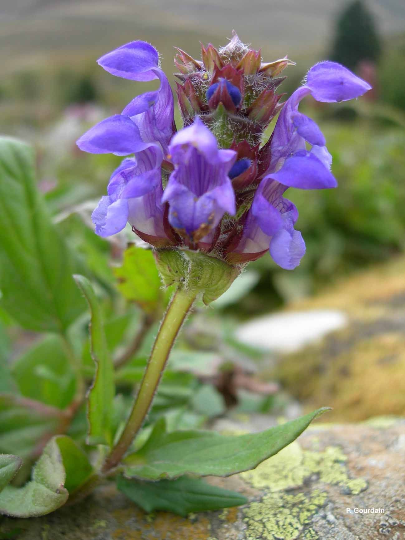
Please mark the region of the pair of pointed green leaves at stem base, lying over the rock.
[[168, 433], [161, 419], [146, 444], [124, 460], [125, 476], [118, 478], [118, 489], [146, 511], [167, 510], [181, 516], [245, 504], [242, 495], [186, 475], [230, 476], [253, 469], [294, 441], [325, 410], [247, 435], [195, 430]]

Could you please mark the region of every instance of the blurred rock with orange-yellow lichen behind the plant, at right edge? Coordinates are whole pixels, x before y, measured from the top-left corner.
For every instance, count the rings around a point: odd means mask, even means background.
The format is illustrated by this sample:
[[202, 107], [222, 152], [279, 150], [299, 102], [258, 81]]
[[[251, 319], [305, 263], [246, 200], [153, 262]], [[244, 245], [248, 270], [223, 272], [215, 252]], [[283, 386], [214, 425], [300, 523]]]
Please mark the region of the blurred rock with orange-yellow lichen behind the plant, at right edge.
[[336, 421], [405, 413], [405, 259], [354, 275], [292, 310], [338, 309], [348, 325], [280, 359], [271, 377]]

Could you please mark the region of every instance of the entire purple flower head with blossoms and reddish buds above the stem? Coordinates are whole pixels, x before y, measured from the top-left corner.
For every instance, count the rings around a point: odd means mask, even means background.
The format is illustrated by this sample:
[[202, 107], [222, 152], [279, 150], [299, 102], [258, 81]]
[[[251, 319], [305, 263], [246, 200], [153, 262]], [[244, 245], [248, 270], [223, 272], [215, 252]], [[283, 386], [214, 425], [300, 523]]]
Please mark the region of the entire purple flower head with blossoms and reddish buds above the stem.
[[127, 43], [98, 63], [112, 75], [158, 79], [160, 86], [77, 142], [87, 152], [132, 156], [113, 172], [93, 212], [96, 233], [109, 236], [129, 222], [156, 247], [200, 249], [232, 265], [269, 251], [282, 268], [296, 267], [305, 243], [294, 228], [298, 211], [284, 193], [337, 185], [325, 137], [299, 104], [308, 95], [325, 103], [356, 98], [370, 86], [339, 64], [320, 62], [280, 104], [280, 73], [294, 63], [287, 57], [262, 63], [260, 51], [234, 33], [224, 48], [203, 46], [201, 60], [178, 49], [184, 128], [176, 132], [172, 91], [152, 45]]

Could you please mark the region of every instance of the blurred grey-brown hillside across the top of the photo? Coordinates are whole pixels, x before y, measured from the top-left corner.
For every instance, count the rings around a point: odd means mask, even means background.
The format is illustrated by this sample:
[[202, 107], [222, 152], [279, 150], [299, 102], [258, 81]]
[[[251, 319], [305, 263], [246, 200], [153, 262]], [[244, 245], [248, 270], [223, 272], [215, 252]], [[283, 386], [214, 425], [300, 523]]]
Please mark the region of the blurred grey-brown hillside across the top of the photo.
[[[198, 42], [226, 43], [234, 28], [265, 56], [316, 56], [345, 0], [2, 0], [0, 51], [5, 71], [95, 58], [132, 39], [154, 42], [172, 62], [172, 45], [198, 54]], [[380, 32], [401, 32], [403, 0], [368, 0]]]

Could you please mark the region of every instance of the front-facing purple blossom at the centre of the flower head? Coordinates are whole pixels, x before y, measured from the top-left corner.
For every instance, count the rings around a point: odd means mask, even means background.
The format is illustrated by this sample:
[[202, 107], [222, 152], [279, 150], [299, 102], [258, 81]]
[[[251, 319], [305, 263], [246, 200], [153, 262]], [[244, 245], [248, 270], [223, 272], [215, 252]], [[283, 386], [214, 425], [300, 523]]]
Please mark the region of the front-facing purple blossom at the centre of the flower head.
[[219, 224], [225, 212], [236, 212], [228, 177], [236, 152], [219, 150], [217, 139], [198, 117], [173, 136], [169, 152], [174, 171], [162, 201], [169, 203], [172, 227], [197, 242]]

